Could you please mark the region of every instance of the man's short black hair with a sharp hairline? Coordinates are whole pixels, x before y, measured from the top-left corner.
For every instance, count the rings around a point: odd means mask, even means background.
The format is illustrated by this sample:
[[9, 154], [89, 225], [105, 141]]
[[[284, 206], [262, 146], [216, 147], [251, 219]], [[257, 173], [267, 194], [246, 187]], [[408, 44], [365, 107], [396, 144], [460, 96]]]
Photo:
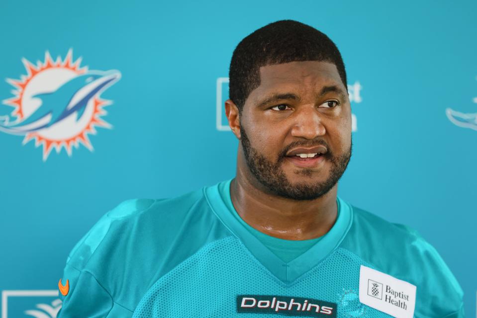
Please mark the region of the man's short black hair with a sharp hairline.
[[326, 34], [294, 20], [267, 24], [235, 48], [229, 70], [229, 97], [241, 112], [248, 95], [260, 85], [260, 67], [295, 61], [333, 63], [348, 89], [340, 51]]

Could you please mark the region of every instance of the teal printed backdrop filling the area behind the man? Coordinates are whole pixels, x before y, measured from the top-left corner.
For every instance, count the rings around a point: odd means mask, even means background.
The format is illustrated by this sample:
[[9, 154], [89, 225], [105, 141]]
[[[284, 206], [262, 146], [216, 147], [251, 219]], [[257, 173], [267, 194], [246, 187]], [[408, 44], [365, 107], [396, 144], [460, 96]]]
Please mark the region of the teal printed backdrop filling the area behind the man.
[[54, 318], [68, 252], [119, 202], [235, 175], [238, 142], [217, 109], [230, 58], [280, 19], [323, 31], [344, 58], [354, 153], [339, 195], [433, 244], [476, 317], [476, 12], [470, 0], [2, 0], [0, 124], [89, 75], [79, 57], [115, 77], [76, 101], [86, 122], [0, 129], [1, 318]]

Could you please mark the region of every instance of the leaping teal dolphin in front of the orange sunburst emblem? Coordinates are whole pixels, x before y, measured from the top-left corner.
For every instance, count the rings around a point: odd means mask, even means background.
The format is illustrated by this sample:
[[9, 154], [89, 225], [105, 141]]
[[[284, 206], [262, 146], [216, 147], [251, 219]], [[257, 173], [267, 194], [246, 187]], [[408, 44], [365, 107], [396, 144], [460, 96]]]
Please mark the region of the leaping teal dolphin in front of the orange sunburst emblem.
[[65, 82], [58, 89], [33, 95], [39, 98], [41, 105], [29, 117], [8, 124], [8, 118], [0, 120], [0, 131], [9, 134], [24, 135], [43, 128], [51, 127], [62, 119], [77, 113], [77, 121], [83, 115], [88, 102], [120, 79], [118, 71], [90, 71]]

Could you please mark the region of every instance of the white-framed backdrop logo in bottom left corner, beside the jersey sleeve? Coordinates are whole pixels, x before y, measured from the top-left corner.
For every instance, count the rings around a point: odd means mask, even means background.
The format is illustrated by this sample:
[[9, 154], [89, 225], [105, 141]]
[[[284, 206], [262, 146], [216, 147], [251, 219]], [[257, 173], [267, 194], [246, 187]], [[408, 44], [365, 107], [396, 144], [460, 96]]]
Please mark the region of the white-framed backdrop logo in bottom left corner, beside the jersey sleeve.
[[56, 318], [61, 304], [57, 290], [4, 290], [1, 318]]

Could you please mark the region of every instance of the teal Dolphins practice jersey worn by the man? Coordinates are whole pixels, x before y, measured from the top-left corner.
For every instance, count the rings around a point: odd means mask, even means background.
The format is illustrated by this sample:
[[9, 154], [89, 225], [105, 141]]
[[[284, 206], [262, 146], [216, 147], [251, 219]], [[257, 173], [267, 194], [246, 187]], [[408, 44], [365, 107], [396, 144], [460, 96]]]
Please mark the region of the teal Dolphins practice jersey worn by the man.
[[464, 317], [462, 289], [429, 243], [337, 200], [334, 226], [305, 243], [247, 228], [230, 180], [125, 201], [71, 251], [58, 317]]

